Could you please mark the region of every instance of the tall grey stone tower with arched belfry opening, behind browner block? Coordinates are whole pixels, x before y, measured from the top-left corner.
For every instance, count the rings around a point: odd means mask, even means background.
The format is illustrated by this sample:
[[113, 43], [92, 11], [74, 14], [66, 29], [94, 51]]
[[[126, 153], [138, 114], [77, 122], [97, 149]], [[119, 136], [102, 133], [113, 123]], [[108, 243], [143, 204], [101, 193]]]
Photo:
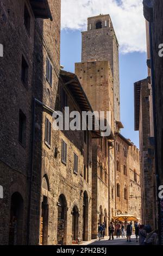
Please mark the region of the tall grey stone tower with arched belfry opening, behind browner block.
[[120, 76], [118, 41], [110, 15], [87, 19], [87, 31], [82, 33], [82, 62], [108, 60], [114, 78], [114, 117], [120, 121]]

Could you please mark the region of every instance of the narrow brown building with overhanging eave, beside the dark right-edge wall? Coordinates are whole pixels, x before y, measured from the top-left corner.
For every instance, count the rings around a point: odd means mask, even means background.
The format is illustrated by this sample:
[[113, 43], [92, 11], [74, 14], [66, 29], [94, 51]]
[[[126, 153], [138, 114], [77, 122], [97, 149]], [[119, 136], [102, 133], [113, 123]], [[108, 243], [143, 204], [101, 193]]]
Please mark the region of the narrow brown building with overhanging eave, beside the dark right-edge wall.
[[154, 144], [151, 137], [150, 104], [151, 90], [146, 78], [136, 82], [135, 90], [135, 130], [140, 137], [140, 166], [141, 166], [141, 197], [142, 223], [155, 227], [155, 175], [154, 175]]

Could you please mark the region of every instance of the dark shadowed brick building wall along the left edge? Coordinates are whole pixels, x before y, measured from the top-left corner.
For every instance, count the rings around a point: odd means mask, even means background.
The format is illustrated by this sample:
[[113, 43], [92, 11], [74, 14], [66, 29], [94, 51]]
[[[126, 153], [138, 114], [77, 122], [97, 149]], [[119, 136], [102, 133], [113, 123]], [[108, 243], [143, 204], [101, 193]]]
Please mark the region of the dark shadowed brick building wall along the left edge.
[[48, 4], [42, 2], [40, 13], [34, 2], [0, 3], [0, 38], [4, 50], [0, 66], [0, 183], [3, 186], [0, 243], [4, 245], [26, 244], [28, 235], [35, 18], [51, 18]]

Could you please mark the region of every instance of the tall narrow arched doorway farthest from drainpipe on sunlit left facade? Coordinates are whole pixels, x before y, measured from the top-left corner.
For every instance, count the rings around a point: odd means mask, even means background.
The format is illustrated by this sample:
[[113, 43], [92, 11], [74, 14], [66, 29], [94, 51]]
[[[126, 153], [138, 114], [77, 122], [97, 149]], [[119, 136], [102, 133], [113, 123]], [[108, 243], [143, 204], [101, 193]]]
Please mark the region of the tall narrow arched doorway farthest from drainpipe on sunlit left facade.
[[83, 197], [83, 241], [88, 241], [88, 213], [89, 213], [89, 204], [88, 204], [88, 195], [87, 192], [84, 192]]

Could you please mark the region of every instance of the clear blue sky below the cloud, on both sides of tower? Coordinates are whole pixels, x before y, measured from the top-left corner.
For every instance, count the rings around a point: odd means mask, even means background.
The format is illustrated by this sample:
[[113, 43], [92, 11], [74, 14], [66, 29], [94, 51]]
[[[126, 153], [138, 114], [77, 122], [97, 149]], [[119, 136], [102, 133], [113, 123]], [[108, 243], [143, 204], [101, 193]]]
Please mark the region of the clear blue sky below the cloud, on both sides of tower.
[[[62, 29], [61, 65], [74, 72], [74, 63], [81, 61], [82, 36], [79, 30]], [[139, 132], [134, 131], [134, 82], [147, 77], [146, 53], [120, 53], [120, 93], [122, 135], [139, 147]]]

